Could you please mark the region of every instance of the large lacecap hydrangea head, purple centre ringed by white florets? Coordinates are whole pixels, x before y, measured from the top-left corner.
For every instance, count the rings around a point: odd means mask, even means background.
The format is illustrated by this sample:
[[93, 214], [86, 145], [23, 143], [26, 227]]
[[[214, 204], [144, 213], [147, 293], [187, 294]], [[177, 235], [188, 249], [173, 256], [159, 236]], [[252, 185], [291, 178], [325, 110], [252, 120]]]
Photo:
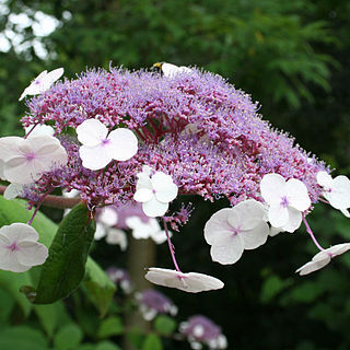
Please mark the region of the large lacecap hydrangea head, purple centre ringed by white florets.
[[[245, 249], [302, 222], [327, 261], [348, 249], [324, 249], [306, 221], [322, 197], [349, 215], [346, 176], [332, 179], [323, 162], [271, 128], [258, 104], [223, 78], [171, 63], [155, 67], [161, 71], [97, 69], [56, 83], [62, 70], [38, 75], [21, 96], [37, 95], [26, 100], [27, 135], [0, 139], [0, 175], [12, 183], [8, 198], [19, 194], [34, 206], [59, 187], [78, 190], [92, 211], [139, 202], [143, 214], [162, 219], [175, 266], [150, 268], [145, 278], [188, 292], [223, 283], [177, 265], [167, 225], [176, 231], [188, 220], [185, 206], [168, 214], [179, 195], [229, 200], [205, 229], [212, 259], [221, 264], [236, 262]], [[50, 135], [34, 135], [48, 126]], [[132, 225], [140, 228], [140, 219]], [[319, 258], [313, 261], [298, 271], [322, 267], [314, 264]]]

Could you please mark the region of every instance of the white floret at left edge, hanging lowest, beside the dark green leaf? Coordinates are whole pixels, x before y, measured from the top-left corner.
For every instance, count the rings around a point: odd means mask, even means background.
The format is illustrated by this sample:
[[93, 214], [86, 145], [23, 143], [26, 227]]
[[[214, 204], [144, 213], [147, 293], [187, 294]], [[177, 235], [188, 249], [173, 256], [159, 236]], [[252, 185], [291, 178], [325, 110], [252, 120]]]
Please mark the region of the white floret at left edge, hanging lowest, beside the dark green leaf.
[[13, 223], [0, 229], [0, 269], [23, 272], [45, 262], [48, 250], [30, 225]]

